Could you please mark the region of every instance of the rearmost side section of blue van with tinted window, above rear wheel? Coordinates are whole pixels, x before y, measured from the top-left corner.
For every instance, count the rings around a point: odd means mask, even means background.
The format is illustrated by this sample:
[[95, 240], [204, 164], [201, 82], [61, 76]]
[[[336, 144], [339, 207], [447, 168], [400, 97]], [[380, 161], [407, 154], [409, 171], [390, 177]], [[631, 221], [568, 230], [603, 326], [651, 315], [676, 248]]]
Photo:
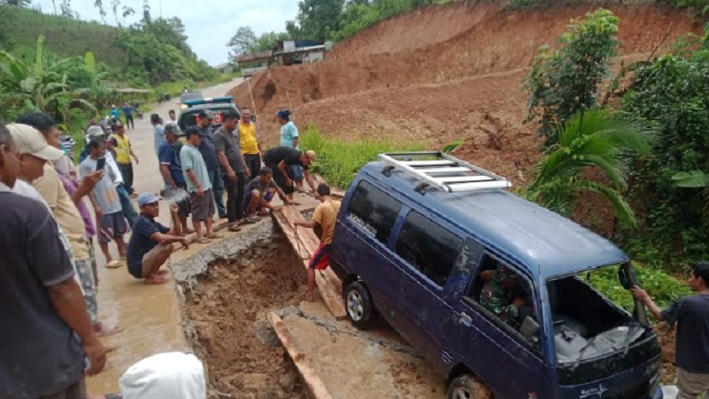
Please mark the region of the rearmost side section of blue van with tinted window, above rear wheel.
[[402, 204], [379, 187], [361, 180], [343, 206], [346, 214], [335, 231], [333, 257], [349, 273], [363, 280], [370, 288], [375, 307], [390, 321], [391, 309], [398, 302], [395, 287], [400, 274], [391, 265], [388, 246]]

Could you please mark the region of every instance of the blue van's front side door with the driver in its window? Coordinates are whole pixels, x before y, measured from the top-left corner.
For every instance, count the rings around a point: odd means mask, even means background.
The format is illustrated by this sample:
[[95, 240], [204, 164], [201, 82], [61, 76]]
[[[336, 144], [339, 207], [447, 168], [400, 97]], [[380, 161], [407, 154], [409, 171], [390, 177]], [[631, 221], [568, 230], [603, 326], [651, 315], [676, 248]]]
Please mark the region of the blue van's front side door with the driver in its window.
[[[510, 278], [495, 282], [500, 266], [507, 268]], [[521, 318], [537, 317], [537, 294], [534, 285], [514, 268], [485, 252], [464, 291], [452, 301], [453, 309], [447, 317], [445, 353], [452, 364], [462, 363], [489, 387], [495, 397], [536, 398], [546, 397], [545, 364], [538, 341], [526, 340], [520, 333]], [[515, 281], [515, 282], [512, 282]], [[491, 286], [492, 287], [492, 286]], [[502, 292], [498, 288], [502, 287]], [[495, 300], [483, 298], [490, 292]], [[500, 303], [507, 306], [514, 299], [523, 299], [512, 312], [499, 312]], [[486, 308], [487, 307], [487, 308]]]

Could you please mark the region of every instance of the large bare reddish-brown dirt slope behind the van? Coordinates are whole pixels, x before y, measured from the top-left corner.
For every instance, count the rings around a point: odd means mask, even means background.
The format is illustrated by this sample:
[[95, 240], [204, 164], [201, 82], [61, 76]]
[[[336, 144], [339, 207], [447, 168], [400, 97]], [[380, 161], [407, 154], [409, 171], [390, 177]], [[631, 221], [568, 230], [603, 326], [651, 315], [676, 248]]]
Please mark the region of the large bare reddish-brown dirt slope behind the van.
[[[440, 148], [463, 137], [460, 156], [519, 182], [538, 157], [538, 137], [521, 125], [522, 78], [539, 46], [597, 7], [515, 11], [452, 3], [381, 22], [338, 45], [325, 62], [276, 67], [251, 79], [261, 130], [276, 143], [272, 116], [293, 108], [302, 129], [313, 123], [343, 139], [383, 135]], [[647, 58], [698, 28], [669, 7], [608, 8], [621, 18], [621, 56]], [[251, 104], [247, 84], [232, 93]]]

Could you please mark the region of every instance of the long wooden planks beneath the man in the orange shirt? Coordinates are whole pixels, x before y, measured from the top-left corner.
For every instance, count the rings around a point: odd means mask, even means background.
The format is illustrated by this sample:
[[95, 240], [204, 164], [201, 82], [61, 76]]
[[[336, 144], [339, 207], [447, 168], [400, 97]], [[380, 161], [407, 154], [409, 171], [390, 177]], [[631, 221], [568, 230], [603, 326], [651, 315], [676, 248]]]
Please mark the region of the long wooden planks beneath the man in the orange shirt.
[[[296, 221], [304, 221], [302, 214], [293, 205], [283, 207], [281, 212], [273, 213], [276, 222], [284, 232], [293, 250], [301, 257], [305, 269], [312, 254], [319, 247], [319, 239], [311, 229], [296, 228]], [[342, 283], [329, 268], [323, 273], [315, 273], [315, 283], [318, 285], [320, 297], [328, 306], [330, 313], [337, 320], [346, 318], [345, 303], [342, 299]]]

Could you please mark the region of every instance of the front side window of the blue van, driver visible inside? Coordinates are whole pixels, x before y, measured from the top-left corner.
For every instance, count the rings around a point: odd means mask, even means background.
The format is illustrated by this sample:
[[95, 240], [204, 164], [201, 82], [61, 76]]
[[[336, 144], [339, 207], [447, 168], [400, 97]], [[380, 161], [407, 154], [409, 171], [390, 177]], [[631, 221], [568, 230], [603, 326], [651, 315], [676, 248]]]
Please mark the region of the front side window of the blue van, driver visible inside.
[[[526, 317], [537, 319], [532, 292], [526, 280], [508, 265], [483, 255], [475, 280], [465, 298], [484, 308], [500, 324], [517, 333]], [[532, 347], [535, 343], [527, 340]]]

